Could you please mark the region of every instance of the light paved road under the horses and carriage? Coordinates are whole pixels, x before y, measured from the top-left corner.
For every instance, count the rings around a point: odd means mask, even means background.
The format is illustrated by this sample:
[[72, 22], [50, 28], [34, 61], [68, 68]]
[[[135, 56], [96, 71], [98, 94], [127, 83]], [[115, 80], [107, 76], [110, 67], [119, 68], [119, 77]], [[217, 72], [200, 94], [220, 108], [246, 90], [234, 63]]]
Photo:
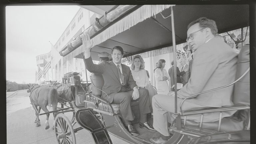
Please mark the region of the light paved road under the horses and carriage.
[[[45, 130], [46, 116], [39, 116], [41, 126], [35, 127], [35, 111], [30, 105], [29, 94], [27, 90], [19, 90], [15, 93], [7, 93], [6, 109], [7, 109], [7, 144], [56, 144], [54, 130]], [[41, 113], [43, 111], [41, 110]], [[72, 112], [65, 113], [72, 118]], [[49, 124], [53, 125], [53, 116], [50, 114]], [[78, 127], [75, 124], [75, 127]], [[114, 144], [128, 144], [110, 135]], [[91, 134], [82, 129], [76, 133], [77, 144], [94, 144]]]

